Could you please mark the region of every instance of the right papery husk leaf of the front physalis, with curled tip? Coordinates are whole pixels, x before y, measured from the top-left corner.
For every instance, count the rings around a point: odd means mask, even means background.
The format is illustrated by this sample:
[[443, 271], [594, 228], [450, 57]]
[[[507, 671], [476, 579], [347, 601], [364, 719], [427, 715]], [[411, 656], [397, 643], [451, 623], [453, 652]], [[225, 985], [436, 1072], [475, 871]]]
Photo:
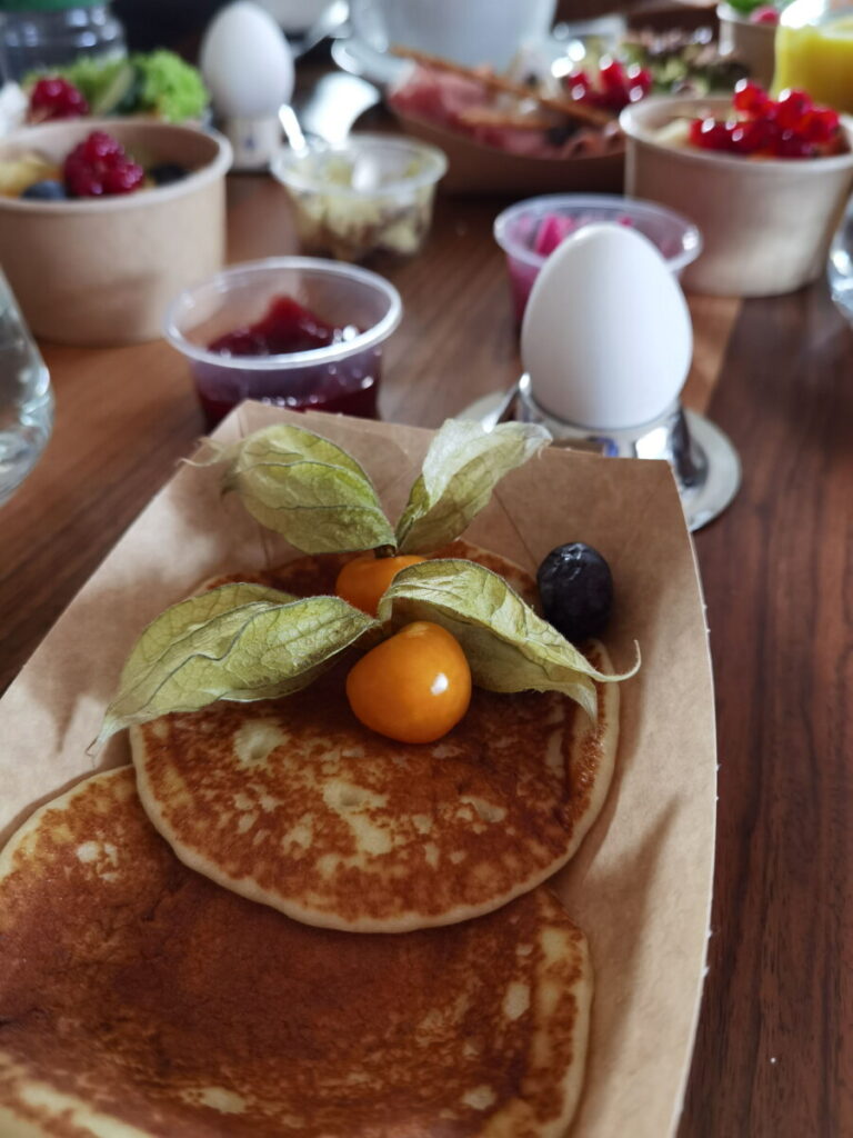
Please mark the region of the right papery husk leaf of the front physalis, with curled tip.
[[403, 569], [379, 603], [395, 627], [432, 620], [462, 645], [475, 684], [492, 692], [562, 692], [595, 719], [597, 671], [572, 644], [525, 604], [497, 574], [473, 561], [442, 559]]

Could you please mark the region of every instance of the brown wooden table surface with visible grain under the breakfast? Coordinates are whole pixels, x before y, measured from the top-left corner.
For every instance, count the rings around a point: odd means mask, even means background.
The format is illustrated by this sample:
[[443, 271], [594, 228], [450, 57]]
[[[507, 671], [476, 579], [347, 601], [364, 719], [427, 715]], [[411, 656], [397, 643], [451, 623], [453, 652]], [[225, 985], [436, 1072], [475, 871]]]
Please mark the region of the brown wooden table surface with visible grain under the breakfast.
[[[406, 314], [383, 418], [434, 427], [516, 377], [499, 206], [441, 201], [426, 249], [388, 272]], [[232, 178], [231, 259], [295, 250], [280, 189]], [[853, 336], [822, 282], [735, 314], [719, 378], [690, 396], [744, 486], [696, 538], [720, 799], [680, 1135], [827, 1138], [853, 1133]], [[0, 691], [204, 429], [165, 343], [44, 356], [53, 437], [0, 509]]]

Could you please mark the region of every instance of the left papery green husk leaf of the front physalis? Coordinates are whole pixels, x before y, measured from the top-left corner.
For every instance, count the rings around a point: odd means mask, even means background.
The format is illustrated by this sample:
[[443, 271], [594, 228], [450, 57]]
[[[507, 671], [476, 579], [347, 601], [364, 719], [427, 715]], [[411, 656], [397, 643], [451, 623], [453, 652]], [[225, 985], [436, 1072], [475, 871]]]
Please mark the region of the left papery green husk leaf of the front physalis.
[[295, 600], [255, 585], [191, 596], [142, 633], [96, 747], [123, 727], [171, 711], [289, 695], [378, 629], [378, 621], [339, 596]]

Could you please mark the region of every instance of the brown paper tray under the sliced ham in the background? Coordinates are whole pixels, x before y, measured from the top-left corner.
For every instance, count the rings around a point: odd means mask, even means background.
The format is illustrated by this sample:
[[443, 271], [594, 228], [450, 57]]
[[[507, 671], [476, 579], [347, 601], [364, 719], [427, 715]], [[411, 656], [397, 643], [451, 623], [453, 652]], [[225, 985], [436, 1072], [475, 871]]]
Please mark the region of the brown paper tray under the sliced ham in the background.
[[394, 107], [391, 110], [406, 134], [447, 155], [447, 173], [440, 183], [445, 193], [622, 192], [624, 150], [587, 158], [532, 158], [482, 146], [464, 134], [403, 115]]

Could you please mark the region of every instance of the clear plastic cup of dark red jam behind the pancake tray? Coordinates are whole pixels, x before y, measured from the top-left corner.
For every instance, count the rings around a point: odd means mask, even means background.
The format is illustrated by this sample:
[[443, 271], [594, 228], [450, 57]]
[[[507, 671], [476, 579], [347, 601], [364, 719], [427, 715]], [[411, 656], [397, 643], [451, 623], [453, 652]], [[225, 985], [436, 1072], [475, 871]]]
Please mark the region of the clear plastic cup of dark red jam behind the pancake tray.
[[[223, 336], [260, 321], [280, 297], [331, 325], [337, 343], [279, 355], [210, 351]], [[233, 265], [185, 289], [166, 312], [164, 335], [190, 363], [208, 428], [243, 399], [375, 419], [382, 344], [401, 314], [397, 289], [366, 269], [271, 257]]]

